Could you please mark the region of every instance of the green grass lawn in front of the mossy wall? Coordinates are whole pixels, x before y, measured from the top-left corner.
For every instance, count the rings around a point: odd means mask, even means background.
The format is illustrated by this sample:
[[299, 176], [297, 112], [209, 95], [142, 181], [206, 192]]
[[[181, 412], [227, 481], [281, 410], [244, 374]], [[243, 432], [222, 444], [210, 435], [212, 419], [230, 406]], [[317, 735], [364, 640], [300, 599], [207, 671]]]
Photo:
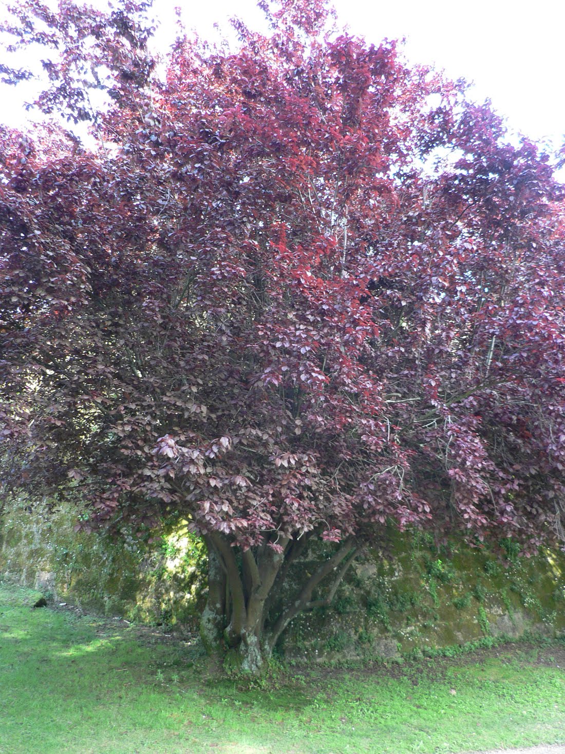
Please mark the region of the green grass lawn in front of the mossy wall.
[[[0, 584], [2, 754], [404, 754], [565, 743], [565, 647], [220, 679], [200, 645]], [[558, 667], [560, 665], [560, 667]]]

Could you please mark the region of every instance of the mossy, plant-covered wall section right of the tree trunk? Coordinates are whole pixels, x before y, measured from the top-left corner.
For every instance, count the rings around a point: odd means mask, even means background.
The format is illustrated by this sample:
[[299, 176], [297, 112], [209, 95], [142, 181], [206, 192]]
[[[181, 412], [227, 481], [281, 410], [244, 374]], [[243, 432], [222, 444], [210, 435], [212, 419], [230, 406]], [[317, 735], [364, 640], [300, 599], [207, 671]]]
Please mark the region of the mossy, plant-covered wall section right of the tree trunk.
[[374, 548], [352, 570], [333, 608], [295, 619], [283, 654], [400, 657], [565, 631], [563, 553], [524, 558], [502, 547], [501, 557], [488, 547], [436, 547], [419, 532], [389, 532], [386, 550]]

